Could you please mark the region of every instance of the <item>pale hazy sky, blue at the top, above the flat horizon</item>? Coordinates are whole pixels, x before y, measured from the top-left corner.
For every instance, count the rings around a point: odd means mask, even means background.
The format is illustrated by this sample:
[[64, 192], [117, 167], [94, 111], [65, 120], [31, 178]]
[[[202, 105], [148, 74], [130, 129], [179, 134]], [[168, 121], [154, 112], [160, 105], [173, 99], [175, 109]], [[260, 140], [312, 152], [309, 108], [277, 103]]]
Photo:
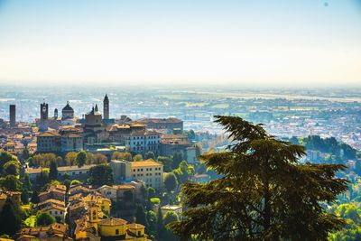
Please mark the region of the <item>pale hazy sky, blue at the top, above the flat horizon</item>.
[[361, 86], [360, 0], [0, 0], [1, 84]]

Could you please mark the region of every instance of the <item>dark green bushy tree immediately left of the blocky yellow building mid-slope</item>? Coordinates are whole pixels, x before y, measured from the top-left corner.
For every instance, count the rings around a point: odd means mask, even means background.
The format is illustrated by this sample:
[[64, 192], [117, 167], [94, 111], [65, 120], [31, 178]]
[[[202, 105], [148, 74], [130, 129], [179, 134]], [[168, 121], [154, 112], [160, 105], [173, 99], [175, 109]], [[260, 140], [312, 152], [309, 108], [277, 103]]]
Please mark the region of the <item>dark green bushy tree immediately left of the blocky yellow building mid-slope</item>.
[[88, 182], [90, 185], [113, 185], [112, 169], [108, 164], [99, 164], [89, 170]]

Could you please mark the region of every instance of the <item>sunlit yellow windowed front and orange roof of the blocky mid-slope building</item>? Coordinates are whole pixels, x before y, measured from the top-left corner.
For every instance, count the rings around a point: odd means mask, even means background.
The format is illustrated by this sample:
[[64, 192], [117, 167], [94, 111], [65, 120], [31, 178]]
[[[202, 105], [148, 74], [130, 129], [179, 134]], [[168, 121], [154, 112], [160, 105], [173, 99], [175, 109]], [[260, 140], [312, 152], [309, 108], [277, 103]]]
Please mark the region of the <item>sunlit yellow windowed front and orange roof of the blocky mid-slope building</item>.
[[163, 165], [148, 159], [142, 162], [132, 163], [132, 177], [136, 180], [141, 180], [146, 187], [154, 189], [162, 189], [163, 183]]

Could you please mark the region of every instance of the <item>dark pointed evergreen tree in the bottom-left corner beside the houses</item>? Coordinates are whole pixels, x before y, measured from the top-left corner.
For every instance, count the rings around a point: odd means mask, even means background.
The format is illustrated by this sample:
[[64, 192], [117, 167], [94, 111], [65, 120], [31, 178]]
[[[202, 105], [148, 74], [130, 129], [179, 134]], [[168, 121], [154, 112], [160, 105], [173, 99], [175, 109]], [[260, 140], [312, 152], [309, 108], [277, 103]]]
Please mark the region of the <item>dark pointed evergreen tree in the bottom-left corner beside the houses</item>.
[[12, 201], [7, 199], [0, 214], [0, 234], [14, 236], [21, 226], [21, 217], [16, 213]]

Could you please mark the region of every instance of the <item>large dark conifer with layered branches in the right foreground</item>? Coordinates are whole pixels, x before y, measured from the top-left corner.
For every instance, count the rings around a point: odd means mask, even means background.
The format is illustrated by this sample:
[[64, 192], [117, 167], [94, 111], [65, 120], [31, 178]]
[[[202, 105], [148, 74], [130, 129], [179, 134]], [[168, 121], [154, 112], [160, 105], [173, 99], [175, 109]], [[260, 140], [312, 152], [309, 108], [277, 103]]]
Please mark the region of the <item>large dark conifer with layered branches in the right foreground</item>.
[[233, 140], [229, 151], [202, 156], [222, 177], [185, 183], [184, 219], [168, 225], [182, 239], [326, 240], [345, 221], [327, 213], [347, 190], [338, 164], [300, 163], [303, 146], [277, 140], [262, 125], [236, 116], [216, 116]]

